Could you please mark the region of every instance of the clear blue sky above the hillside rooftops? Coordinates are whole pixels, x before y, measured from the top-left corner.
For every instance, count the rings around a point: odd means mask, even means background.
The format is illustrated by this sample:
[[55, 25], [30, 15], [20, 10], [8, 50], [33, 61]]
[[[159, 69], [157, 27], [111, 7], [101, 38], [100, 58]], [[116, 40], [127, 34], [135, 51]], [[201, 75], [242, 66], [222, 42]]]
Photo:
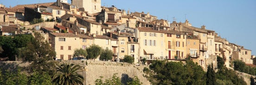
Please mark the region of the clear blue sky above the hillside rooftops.
[[[0, 0], [9, 7], [56, 0]], [[69, 0], [70, 3], [70, 0]], [[186, 19], [195, 27], [205, 25], [229, 42], [244, 46], [256, 55], [256, 0], [102, 0], [102, 6], [116, 6], [130, 12], [149, 12], [158, 19], [177, 22]]]

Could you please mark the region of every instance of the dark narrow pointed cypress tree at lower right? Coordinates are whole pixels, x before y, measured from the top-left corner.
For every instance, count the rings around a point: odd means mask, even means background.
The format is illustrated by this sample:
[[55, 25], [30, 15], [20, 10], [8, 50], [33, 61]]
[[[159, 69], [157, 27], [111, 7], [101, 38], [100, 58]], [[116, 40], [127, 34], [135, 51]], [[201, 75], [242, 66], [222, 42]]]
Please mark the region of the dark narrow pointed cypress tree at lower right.
[[206, 84], [207, 85], [216, 85], [216, 73], [213, 70], [212, 64], [207, 67], [207, 73], [206, 73]]

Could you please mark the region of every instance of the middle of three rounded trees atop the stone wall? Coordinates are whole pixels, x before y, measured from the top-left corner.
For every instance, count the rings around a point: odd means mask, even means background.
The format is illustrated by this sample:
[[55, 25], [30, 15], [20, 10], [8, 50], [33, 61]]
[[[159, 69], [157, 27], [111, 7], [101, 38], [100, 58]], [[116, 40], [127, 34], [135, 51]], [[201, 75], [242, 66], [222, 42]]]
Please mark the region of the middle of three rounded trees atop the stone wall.
[[96, 59], [101, 54], [102, 48], [99, 45], [92, 44], [89, 48], [86, 48], [88, 56], [86, 59]]

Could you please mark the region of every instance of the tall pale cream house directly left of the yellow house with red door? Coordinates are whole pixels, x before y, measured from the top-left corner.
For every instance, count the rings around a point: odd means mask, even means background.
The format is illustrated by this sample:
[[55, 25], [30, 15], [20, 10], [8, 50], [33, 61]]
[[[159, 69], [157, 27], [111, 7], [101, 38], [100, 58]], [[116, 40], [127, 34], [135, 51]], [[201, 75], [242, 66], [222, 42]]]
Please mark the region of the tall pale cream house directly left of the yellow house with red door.
[[139, 39], [140, 56], [147, 60], [163, 60], [166, 57], [166, 42], [164, 30], [154, 30], [148, 27], [139, 27], [135, 30], [135, 37]]

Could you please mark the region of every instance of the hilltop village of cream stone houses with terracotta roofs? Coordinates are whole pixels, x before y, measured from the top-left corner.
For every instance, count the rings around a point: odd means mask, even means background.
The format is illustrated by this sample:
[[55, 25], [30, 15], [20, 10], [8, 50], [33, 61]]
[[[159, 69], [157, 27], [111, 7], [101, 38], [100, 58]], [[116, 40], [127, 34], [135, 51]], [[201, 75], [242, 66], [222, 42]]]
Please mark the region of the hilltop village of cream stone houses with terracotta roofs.
[[[43, 21], [37, 23], [35, 19]], [[227, 68], [232, 67], [233, 60], [256, 67], [256, 58], [250, 49], [229, 42], [214, 30], [207, 30], [205, 25], [193, 27], [189, 20], [169, 22], [149, 12], [101, 6], [101, 0], [1, 5], [1, 36], [35, 32], [45, 36], [56, 52], [56, 60], [73, 59], [75, 49], [96, 44], [112, 50], [110, 61], [119, 62], [125, 55], [134, 57], [134, 64], [141, 64], [142, 59], [146, 59], [147, 64], [153, 60], [192, 60], [206, 70], [211, 64], [216, 68], [217, 56], [220, 56]]]

